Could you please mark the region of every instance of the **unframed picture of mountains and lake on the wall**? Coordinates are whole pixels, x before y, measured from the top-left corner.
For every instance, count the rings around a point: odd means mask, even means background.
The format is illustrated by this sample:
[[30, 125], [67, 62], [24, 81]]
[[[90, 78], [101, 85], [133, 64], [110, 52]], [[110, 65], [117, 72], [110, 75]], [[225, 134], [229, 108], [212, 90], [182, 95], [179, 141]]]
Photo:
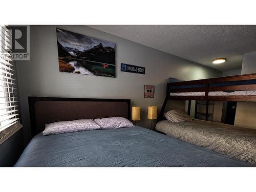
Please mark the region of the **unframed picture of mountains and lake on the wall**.
[[115, 44], [56, 29], [59, 71], [115, 77]]

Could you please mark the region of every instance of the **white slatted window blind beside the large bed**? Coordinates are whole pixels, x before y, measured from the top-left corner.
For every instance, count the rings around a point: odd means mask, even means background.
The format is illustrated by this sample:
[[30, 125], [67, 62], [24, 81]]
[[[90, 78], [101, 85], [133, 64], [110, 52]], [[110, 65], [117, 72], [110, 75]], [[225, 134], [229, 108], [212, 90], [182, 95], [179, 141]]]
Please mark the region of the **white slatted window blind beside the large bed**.
[[8, 57], [10, 54], [10, 36], [6, 26], [1, 30], [0, 56], [0, 132], [19, 123], [18, 88], [16, 68]]

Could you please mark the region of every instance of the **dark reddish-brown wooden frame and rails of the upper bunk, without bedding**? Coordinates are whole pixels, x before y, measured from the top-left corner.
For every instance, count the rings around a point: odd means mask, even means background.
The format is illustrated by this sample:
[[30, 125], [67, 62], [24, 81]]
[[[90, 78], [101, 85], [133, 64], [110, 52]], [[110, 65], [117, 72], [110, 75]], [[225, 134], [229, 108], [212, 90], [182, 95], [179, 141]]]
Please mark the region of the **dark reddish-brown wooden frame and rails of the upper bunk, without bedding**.
[[[232, 86], [215, 86], [210, 87], [211, 83], [223, 83], [230, 81], [244, 81], [244, 80], [255, 80], [256, 73], [254, 74], [246, 74], [246, 75], [236, 75], [236, 76], [228, 76], [228, 77], [219, 77], [219, 78], [210, 78], [210, 79], [200, 79], [200, 80], [191, 80], [191, 81], [181, 81], [181, 82], [170, 82], [167, 83], [166, 87], [166, 97], [164, 99], [160, 114], [158, 116], [158, 121], [163, 120], [163, 113], [166, 107], [168, 100], [188, 100], [188, 112], [190, 115], [190, 107], [191, 100], [204, 100], [206, 101], [206, 120], [208, 117], [208, 103], [209, 101], [256, 101], [256, 95], [228, 95], [228, 96], [210, 96], [208, 93], [210, 91], [250, 91], [256, 90], [255, 84], [239, 84]], [[195, 84], [204, 84], [202, 88], [181, 88], [181, 89], [173, 89], [173, 87], [177, 86], [189, 86]], [[205, 95], [200, 96], [171, 96], [170, 93], [184, 93], [184, 92], [205, 92]]]

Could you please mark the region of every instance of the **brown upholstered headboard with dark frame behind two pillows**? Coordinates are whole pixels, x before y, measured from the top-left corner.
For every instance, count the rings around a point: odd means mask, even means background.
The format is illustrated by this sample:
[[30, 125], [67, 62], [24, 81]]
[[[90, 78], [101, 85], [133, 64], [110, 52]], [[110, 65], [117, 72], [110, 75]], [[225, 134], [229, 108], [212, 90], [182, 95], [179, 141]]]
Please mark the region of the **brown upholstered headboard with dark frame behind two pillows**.
[[130, 99], [28, 97], [32, 136], [45, 124], [76, 119], [125, 117], [130, 119]]

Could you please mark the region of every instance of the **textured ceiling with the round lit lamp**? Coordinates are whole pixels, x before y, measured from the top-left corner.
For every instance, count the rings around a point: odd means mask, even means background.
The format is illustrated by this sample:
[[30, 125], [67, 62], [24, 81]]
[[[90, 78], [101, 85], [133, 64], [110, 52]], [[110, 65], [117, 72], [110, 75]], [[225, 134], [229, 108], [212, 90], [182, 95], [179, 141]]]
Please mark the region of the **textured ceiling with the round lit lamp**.
[[[89, 26], [220, 71], [240, 69], [244, 53], [256, 51], [256, 26]], [[212, 59], [225, 57], [223, 64]]]

